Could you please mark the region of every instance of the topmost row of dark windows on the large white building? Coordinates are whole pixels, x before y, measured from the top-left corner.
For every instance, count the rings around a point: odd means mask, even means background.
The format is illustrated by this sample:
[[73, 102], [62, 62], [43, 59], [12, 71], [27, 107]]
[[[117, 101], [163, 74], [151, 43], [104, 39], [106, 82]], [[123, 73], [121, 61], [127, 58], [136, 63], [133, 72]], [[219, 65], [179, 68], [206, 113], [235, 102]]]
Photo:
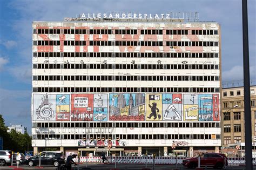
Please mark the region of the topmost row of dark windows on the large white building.
[[[137, 35], [134, 29], [111, 30], [111, 29], [37, 29], [33, 33], [38, 34], [102, 34], [102, 35]], [[163, 30], [140, 30], [141, 35], [163, 35]], [[218, 35], [218, 30], [191, 30], [192, 35]], [[188, 30], [166, 30], [166, 35], [188, 35]]]

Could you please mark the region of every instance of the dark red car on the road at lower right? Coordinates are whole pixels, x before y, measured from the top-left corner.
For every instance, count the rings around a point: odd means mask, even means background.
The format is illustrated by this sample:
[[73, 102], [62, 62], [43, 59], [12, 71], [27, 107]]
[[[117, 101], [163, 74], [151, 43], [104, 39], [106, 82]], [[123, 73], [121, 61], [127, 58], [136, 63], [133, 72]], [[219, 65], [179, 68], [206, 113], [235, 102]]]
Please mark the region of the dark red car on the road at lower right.
[[[199, 155], [193, 158], [184, 159], [182, 162], [183, 166], [188, 168], [196, 168], [198, 167], [198, 158]], [[225, 154], [221, 153], [204, 153], [200, 155], [200, 166], [202, 167], [214, 167], [214, 168], [223, 168], [226, 160], [227, 166], [227, 157]]]

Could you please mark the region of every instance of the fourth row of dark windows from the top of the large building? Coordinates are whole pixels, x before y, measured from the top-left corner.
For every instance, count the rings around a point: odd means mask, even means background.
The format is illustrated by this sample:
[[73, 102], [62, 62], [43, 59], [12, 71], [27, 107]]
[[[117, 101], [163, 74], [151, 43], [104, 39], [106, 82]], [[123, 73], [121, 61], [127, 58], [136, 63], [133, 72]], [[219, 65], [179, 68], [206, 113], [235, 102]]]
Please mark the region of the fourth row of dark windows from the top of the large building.
[[33, 69], [164, 69], [218, 70], [213, 64], [33, 64]]

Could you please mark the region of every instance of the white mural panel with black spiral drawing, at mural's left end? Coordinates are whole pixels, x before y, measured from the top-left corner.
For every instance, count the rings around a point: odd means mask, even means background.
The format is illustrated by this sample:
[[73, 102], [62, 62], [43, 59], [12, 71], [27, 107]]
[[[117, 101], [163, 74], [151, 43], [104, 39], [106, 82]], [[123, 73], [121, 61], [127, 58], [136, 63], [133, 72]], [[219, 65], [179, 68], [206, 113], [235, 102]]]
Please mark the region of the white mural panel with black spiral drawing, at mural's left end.
[[56, 120], [56, 95], [33, 94], [33, 121]]

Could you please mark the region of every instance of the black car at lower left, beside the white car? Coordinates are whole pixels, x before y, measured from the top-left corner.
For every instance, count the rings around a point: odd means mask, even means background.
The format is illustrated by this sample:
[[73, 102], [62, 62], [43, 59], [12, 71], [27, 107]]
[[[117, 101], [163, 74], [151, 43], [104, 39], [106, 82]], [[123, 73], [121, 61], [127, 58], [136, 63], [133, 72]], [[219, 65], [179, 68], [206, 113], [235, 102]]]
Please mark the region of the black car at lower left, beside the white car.
[[[27, 159], [25, 164], [29, 166], [39, 165], [39, 155]], [[41, 165], [60, 166], [61, 164], [65, 164], [65, 156], [62, 153], [43, 152], [41, 154]]]

